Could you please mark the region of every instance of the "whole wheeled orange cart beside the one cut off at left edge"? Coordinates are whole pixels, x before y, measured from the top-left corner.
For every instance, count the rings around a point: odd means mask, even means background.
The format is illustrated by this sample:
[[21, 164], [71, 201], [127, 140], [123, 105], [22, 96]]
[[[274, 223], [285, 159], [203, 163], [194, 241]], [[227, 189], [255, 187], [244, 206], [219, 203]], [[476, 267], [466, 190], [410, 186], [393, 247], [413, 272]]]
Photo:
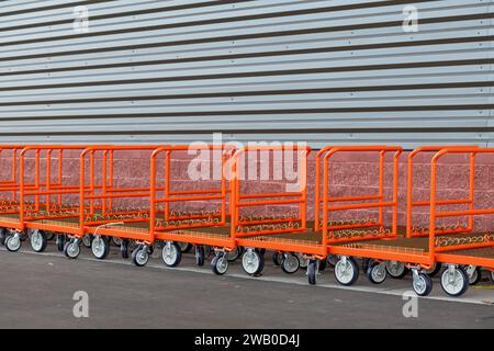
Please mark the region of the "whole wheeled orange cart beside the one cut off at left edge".
[[79, 173], [71, 163], [85, 148], [26, 146], [20, 154], [19, 230], [29, 234], [36, 252], [45, 251], [54, 234], [63, 251], [66, 236], [77, 233]]

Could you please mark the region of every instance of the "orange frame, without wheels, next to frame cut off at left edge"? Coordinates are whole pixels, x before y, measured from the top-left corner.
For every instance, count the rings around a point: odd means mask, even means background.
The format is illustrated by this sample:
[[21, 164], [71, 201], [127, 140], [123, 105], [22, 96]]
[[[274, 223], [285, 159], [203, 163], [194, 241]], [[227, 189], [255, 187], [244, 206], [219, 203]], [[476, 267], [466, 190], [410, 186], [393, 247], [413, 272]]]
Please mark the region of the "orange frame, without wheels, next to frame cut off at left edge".
[[[67, 207], [63, 203], [63, 196], [79, 193], [79, 184], [64, 185], [64, 151], [82, 151], [86, 146], [26, 146], [20, 154], [20, 230], [25, 228], [36, 228], [61, 234], [77, 234], [77, 230], [70, 226], [59, 224], [44, 223], [42, 219], [66, 219], [77, 218], [79, 208], [77, 205]], [[57, 151], [58, 157], [53, 154]], [[25, 157], [26, 154], [34, 152], [34, 182], [26, 182]], [[42, 180], [42, 160], [46, 162], [45, 180]], [[56, 160], [58, 163], [57, 180], [53, 181], [52, 163]], [[34, 197], [32, 204], [27, 199]], [[56, 200], [53, 200], [56, 197]], [[43, 214], [42, 214], [43, 212]]]

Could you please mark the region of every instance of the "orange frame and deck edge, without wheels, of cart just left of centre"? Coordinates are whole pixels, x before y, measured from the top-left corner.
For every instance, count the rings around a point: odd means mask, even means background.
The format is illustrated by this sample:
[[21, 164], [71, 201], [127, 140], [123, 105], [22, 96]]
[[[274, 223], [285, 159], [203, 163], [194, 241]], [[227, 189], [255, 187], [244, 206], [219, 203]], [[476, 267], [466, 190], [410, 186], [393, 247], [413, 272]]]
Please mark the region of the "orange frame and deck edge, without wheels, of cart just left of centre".
[[[218, 151], [222, 162], [222, 180], [220, 189], [203, 189], [192, 191], [177, 191], [171, 189], [171, 158], [173, 152], [187, 150]], [[224, 248], [227, 251], [235, 248], [233, 238], [220, 236], [200, 236], [187, 233], [187, 229], [205, 227], [225, 227], [229, 217], [227, 196], [231, 194], [226, 179], [227, 165], [235, 149], [225, 145], [203, 145], [203, 146], [164, 146], [157, 148], [150, 160], [150, 216], [149, 237], [147, 242], [155, 240], [181, 241], [194, 245], [207, 245]], [[165, 184], [158, 186], [157, 170], [158, 157], [165, 155]], [[162, 192], [164, 196], [159, 197]], [[175, 214], [170, 211], [171, 203], [191, 203], [198, 201], [216, 201], [221, 203], [221, 210], [216, 214]], [[159, 205], [164, 204], [165, 210], [159, 211]], [[232, 206], [231, 206], [232, 207]], [[159, 215], [162, 214], [160, 218]], [[161, 223], [162, 219], [162, 223]]]

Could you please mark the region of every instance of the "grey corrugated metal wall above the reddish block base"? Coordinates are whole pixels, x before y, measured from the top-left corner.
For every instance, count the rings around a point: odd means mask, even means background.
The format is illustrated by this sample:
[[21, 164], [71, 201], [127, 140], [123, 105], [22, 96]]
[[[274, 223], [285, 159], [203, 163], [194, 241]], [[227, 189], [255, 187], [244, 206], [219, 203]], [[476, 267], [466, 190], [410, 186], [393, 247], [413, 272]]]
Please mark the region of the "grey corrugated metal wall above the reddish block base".
[[493, 15], [494, 0], [1, 1], [0, 143], [492, 144]]

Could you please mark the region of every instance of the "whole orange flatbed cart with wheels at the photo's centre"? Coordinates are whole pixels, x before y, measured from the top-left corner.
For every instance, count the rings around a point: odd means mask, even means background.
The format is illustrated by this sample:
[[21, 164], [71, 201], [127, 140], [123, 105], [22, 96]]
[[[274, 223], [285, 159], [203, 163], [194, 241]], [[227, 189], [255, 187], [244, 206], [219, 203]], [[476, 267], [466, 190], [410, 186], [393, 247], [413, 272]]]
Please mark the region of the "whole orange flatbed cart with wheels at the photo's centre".
[[[238, 246], [246, 248], [242, 265], [247, 274], [260, 274], [265, 265], [263, 252], [271, 250], [281, 254], [280, 264], [287, 273], [296, 272], [300, 258], [307, 259], [307, 275], [310, 282], [315, 284], [317, 271], [325, 262], [326, 248], [322, 246], [322, 233], [314, 230], [313, 224], [306, 219], [310, 152], [311, 148], [307, 146], [247, 146], [235, 154], [231, 180], [231, 236]], [[243, 177], [246, 160], [252, 155], [273, 159], [278, 157], [278, 163], [261, 159], [260, 165], [273, 165], [280, 170], [283, 161], [287, 162], [284, 158], [293, 160], [293, 154], [297, 156], [299, 189], [274, 192], [277, 189], [273, 186], [287, 184], [273, 182], [273, 179], [269, 178], [256, 179], [258, 184], [250, 186], [248, 179], [245, 179], [247, 177]], [[273, 169], [269, 172], [274, 171]], [[266, 183], [267, 186], [262, 186]], [[278, 210], [276, 206], [290, 206], [292, 210]], [[258, 214], [267, 211], [271, 214]]]

